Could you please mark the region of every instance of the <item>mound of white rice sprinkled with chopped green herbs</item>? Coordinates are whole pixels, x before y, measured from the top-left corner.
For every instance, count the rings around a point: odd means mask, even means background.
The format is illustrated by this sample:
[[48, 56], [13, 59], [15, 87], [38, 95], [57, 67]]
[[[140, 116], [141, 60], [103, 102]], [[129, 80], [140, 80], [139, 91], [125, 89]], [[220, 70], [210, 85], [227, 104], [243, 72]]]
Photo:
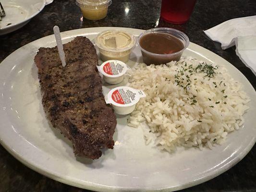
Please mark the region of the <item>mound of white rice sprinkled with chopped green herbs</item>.
[[140, 63], [130, 70], [129, 86], [143, 90], [146, 97], [136, 104], [128, 125], [139, 127], [146, 121], [146, 144], [155, 141], [169, 152], [179, 145], [212, 148], [244, 123], [242, 115], [250, 99], [242, 85], [223, 67], [212, 65], [213, 77], [206, 71], [195, 72], [199, 63], [195, 59], [166, 65]]

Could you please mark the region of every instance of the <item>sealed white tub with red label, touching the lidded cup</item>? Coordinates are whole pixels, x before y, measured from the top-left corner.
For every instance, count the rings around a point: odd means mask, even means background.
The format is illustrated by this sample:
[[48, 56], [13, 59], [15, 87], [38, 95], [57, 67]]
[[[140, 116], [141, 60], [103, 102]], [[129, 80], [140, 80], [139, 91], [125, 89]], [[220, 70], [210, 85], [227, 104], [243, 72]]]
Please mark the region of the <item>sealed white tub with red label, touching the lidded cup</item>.
[[98, 71], [103, 75], [103, 79], [108, 84], [119, 84], [122, 82], [124, 73], [129, 69], [121, 60], [107, 60], [100, 66]]

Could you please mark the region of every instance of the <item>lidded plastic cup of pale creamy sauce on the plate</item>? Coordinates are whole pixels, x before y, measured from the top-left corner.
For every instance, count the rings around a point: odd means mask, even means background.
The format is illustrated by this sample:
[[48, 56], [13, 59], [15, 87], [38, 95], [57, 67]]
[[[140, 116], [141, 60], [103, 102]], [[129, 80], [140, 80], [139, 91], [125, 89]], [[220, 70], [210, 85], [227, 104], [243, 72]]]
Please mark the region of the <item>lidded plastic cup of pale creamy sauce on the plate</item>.
[[103, 31], [95, 39], [102, 61], [121, 60], [127, 62], [135, 45], [135, 37], [125, 31]]

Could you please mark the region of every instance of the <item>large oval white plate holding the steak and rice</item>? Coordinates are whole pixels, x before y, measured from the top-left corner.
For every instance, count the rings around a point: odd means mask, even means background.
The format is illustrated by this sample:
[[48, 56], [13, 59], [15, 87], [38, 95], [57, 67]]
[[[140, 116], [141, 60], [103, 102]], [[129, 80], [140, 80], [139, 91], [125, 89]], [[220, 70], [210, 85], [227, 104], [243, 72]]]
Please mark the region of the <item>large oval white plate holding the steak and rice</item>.
[[[63, 43], [75, 36], [92, 41], [103, 30], [98, 27], [62, 32]], [[142, 30], [119, 28], [135, 36]], [[100, 192], [175, 191], [210, 180], [239, 162], [256, 141], [256, 92], [232, 64], [194, 43], [184, 51], [208, 63], [225, 66], [251, 97], [244, 126], [228, 135], [212, 150], [178, 148], [174, 153], [145, 145], [142, 129], [127, 126], [127, 116], [117, 116], [114, 149], [104, 150], [97, 160], [75, 158], [70, 141], [53, 129], [45, 117], [34, 57], [39, 47], [55, 46], [46, 36], [17, 49], [0, 64], [0, 143], [29, 168], [54, 180]], [[136, 47], [129, 65], [141, 61]], [[110, 87], [104, 86], [106, 94]]]

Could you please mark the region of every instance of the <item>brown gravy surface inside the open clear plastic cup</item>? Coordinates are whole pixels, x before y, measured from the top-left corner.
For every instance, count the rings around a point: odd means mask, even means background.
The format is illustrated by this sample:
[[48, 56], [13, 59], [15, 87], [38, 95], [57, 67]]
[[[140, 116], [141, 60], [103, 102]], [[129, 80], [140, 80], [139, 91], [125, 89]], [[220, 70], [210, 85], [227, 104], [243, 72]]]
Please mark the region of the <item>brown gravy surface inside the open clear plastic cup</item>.
[[149, 33], [140, 39], [140, 46], [157, 54], [175, 53], [184, 48], [183, 42], [167, 33]]

